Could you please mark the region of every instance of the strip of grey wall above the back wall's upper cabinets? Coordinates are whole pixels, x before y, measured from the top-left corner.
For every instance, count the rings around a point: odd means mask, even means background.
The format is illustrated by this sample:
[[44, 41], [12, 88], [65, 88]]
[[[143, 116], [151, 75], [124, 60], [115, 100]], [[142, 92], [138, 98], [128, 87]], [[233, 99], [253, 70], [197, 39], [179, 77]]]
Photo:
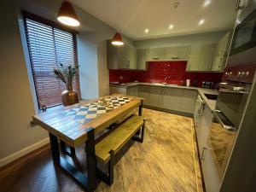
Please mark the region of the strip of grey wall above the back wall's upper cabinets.
[[136, 41], [137, 48], [174, 47], [192, 44], [214, 44], [228, 31], [205, 32], [192, 35], [184, 35], [170, 38], [152, 38]]

